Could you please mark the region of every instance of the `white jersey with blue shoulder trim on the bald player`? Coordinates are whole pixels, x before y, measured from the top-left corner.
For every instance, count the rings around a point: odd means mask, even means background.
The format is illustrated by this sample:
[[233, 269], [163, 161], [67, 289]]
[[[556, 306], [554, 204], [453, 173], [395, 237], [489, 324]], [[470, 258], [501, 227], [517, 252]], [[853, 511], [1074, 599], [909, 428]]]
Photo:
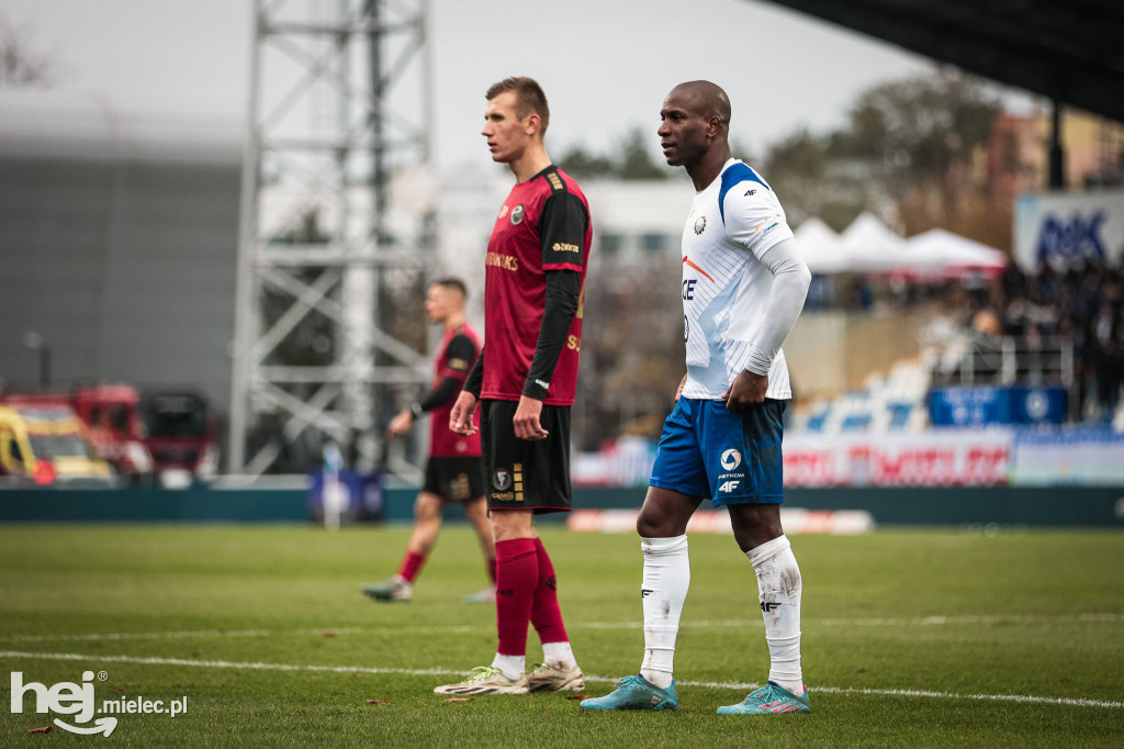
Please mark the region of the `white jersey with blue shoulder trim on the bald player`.
[[[769, 183], [731, 159], [700, 192], [683, 227], [683, 396], [716, 400], [746, 368], [773, 276], [760, 258], [792, 238], [785, 209]], [[792, 397], [785, 352], [769, 369], [767, 398]]]

